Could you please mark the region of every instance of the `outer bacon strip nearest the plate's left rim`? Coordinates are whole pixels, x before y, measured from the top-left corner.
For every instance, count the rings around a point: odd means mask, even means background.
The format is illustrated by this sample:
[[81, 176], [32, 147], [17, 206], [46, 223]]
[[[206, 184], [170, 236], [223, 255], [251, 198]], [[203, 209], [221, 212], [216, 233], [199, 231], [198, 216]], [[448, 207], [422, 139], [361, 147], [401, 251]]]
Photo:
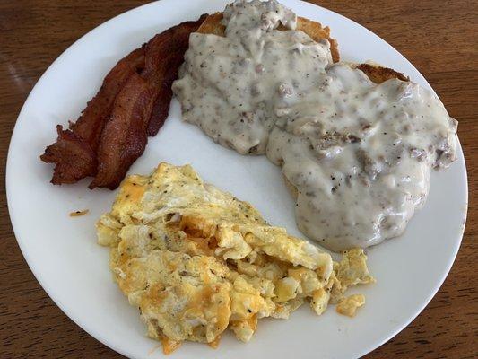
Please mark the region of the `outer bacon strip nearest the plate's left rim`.
[[[74, 183], [96, 174], [95, 152], [117, 92], [131, 74], [135, 74], [143, 67], [144, 48], [136, 48], [109, 71], [100, 91], [88, 102], [76, 123], [70, 124], [69, 130], [56, 127], [58, 132], [56, 143], [49, 145], [40, 156], [43, 162], [56, 163], [51, 183], [56, 185]], [[82, 161], [75, 162], [75, 158], [81, 158]]]

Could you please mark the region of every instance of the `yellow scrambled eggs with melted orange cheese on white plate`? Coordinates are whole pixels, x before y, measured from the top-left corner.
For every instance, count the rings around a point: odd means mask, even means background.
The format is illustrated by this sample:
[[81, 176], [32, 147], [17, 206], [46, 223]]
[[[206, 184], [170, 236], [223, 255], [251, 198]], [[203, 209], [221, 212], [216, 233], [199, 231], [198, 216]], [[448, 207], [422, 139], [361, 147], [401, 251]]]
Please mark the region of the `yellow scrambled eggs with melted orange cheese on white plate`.
[[[333, 262], [189, 165], [127, 177], [97, 233], [119, 288], [166, 353], [185, 340], [217, 346], [226, 328], [247, 342], [260, 318], [287, 319], [303, 302], [321, 314], [349, 286], [374, 282], [363, 250]], [[347, 315], [363, 304], [345, 300]]]

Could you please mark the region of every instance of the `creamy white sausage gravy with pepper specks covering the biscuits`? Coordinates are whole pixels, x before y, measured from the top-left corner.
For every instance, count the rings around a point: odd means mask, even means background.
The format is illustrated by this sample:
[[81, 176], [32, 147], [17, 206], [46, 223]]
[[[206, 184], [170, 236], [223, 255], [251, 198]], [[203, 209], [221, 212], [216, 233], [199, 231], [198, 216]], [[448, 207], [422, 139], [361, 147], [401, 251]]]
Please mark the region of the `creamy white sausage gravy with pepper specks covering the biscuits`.
[[[456, 120], [430, 91], [332, 64], [276, 1], [226, 7], [226, 37], [191, 34], [173, 89], [214, 141], [282, 165], [301, 232], [330, 250], [404, 232], [430, 169], [456, 158]], [[275, 30], [279, 24], [290, 31]]]

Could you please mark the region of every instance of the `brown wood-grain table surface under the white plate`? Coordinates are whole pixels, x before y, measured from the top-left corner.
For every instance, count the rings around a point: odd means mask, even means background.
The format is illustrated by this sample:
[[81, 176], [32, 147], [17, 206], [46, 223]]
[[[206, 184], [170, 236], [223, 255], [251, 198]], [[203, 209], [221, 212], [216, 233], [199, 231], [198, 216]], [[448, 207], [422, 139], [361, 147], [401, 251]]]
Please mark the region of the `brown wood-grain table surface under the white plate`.
[[[319, 1], [313, 1], [319, 3]], [[77, 327], [39, 286], [9, 221], [4, 163], [16, 117], [39, 76], [75, 40], [146, 1], [4, 0], [0, 3], [0, 357], [118, 358]], [[320, 1], [404, 54], [459, 121], [470, 206], [445, 284], [422, 314], [368, 358], [472, 358], [478, 353], [478, 4], [455, 0]], [[393, 309], [391, 309], [393, 310]]]

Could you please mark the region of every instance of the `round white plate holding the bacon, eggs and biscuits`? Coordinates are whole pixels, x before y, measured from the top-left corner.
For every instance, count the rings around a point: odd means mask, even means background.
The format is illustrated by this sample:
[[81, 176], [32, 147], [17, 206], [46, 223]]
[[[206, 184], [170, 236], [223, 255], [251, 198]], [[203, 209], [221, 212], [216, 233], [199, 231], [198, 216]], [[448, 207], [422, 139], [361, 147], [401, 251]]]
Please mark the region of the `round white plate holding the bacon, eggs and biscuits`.
[[[109, 250], [96, 244], [94, 223], [109, 210], [115, 192], [48, 183], [52, 168], [39, 154], [55, 138], [55, 125], [77, 118], [97, 92], [111, 66], [152, 35], [205, 12], [221, 11], [222, 0], [162, 0], [105, 22], [83, 36], [43, 74], [23, 106], [13, 132], [7, 162], [7, 196], [13, 229], [22, 253], [40, 285], [79, 326], [117, 352], [135, 358], [160, 357], [157, 343], [144, 337], [137, 310], [113, 283]], [[337, 13], [297, 0], [283, 0], [301, 16], [332, 28], [343, 59], [378, 63], [410, 75], [430, 87], [394, 48], [372, 32]], [[130, 173], [148, 173], [161, 161], [190, 162], [204, 178], [253, 203], [270, 223], [300, 235], [293, 204], [279, 169], [265, 157], [240, 156], [222, 148], [192, 125], [180, 121], [173, 101], [169, 119], [150, 138]], [[353, 320], [331, 308], [317, 317], [307, 306], [291, 320], [261, 320], [248, 344], [230, 334], [221, 346], [187, 343], [171, 357], [359, 357], [404, 328], [437, 292], [456, 257], [467, 207], [463, 153], [448, 171], [431, 176], [430, 197], [405, 234], [369, 250], [376, 285], [357, 288], [367, 304]], [[82, 217], [71, 211], [88, 208]]]

